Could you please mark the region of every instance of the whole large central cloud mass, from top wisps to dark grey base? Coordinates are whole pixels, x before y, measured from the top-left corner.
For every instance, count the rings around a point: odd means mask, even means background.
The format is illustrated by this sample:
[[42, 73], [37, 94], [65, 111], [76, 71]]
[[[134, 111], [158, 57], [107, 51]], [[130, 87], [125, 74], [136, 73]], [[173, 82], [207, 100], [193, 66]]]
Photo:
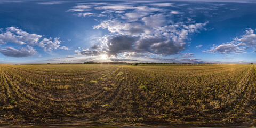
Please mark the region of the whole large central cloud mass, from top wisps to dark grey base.
[[[190, 35], [206, 30], [205, 26], [208, 22], [195, 23], [191, 19], [190, 22], [175, 23], [170, 20], [174, 17], [172, 14], [181, 12], [163, 8], [172, 5], [172, 3], [153, 3], [95, 6], [94, 9], [102, 10], [100, 14], [106, 14], [108, 19], [101, 20], [98, 25], [93, 26], [93, 29], [106, 29], [109, 34], [99, 40], [100, 44], [97, 42], [97, 46], [91, 47], [94, 50], [79, 51], [78, 54], [91, 56], [104, 53], [117, 57], [119, 54], [130, 53], [129, 58], [140, 55], [142, 57], [143, 54], [161, 56], [179, 54], [186, 49]], [[94, 13], [86, 12], [86, 15], [97, 17]]]

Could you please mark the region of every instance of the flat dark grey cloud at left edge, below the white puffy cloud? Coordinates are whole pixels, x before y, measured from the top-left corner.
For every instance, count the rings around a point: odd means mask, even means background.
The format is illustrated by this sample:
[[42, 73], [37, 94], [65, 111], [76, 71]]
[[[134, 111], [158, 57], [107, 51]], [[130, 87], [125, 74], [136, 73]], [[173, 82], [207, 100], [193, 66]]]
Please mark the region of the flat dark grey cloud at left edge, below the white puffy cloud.
[[13, 47], [5, 47], [5, 49], [0, 49], [0, 53], [8, 57], [20, 58], [30, 57], [32, 55], [35, 55], [37, 52], [33, 47], [27, 45], [26, 47], [21, 47], [19, 50]]

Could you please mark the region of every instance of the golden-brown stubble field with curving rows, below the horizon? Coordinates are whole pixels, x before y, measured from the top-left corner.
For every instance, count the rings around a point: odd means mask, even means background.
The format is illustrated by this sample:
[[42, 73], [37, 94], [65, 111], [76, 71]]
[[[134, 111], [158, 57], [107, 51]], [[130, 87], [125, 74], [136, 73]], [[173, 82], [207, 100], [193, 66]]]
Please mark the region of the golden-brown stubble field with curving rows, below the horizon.
[[252, 125], [255, 65], [0, 65], [0, 123]]

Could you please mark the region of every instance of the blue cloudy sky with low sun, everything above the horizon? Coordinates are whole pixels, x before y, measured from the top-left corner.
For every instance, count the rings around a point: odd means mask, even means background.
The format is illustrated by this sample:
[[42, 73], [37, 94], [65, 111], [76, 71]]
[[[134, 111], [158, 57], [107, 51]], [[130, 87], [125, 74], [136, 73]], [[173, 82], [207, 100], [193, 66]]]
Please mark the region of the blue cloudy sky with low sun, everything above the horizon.
[[256, 63], [255, 1], [0, 1], [0, 63]]

